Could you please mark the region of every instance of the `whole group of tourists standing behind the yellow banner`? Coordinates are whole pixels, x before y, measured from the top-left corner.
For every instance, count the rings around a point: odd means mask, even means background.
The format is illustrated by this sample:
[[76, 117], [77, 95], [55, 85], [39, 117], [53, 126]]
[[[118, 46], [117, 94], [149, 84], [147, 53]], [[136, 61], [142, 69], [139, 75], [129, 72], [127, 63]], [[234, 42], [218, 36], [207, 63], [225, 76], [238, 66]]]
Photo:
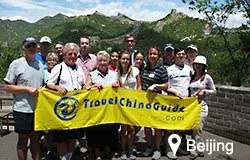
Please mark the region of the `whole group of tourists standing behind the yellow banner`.
[[[101, 90], [105, 86], [112, 86], [179, 98], [198, 96], [199, 103], [202, 103], [200, 127], [192, 132], [192, 136], [197, 142], [202, 141], [202, 128], [208, 114], [205, 96], [215, 93], [213, 79], [207, 74], [206, 58], [198, 55], [198, 49], [193, 44], [185, 49], [175, 48], [172, 44], [166, 44], [163, 50], [153, 46], [144, 54], [135, 50], [134, 35], [126, 35], [124, 43], [123, 51], [108, 53], [101, 50], [91, 54], [88, 37], [81, 37], [79, 45], [58, 42], [54, 52], [50, 52], [52, 41], [47, 36], [42, 37], [39, 43], [33, 37], [24, 39], [23, 57], [10, 64], [4, 78], [5, 90], [13, 93], [15, 132], [18, 133], [17, 154], [20, 160], [27, 159], [29, 139], [32, 158], [40, 159], [41, 133], [34, 131], [34, 107], [41, 87], [62, 95], [73, 90]], [[134, 137], [139, 129], [139, 126], [126, 124], [103, 124], [84, 129], [49, 130], [43, 134], [48, 151], [54, 152], [52, 148], [55, 145], [61, 160], [72, 158], [76, 141], [81, 142], [85, 134], [94, 159], [101, 160], [105, 156], [111, 159], [119, 155], [122, 160], [133, 160], [136, 159], [133, 152]], [[152, 130], [155, 139], [152, 138]], [[170, 159], [177, 159], [167, 142], [171, 133], [181, 135], [183, 141], [186, 139], [186, 133], [180, 131], [145, 127], [144, 133], [147, 147], [143, 155], [152, 156], [155, 160], [162, 155], [162, 141], [166, 144], [166, 155]], [[204, 153], [194, 151], [190, 154], [191, 159], [198, 156], [204, 156]]]

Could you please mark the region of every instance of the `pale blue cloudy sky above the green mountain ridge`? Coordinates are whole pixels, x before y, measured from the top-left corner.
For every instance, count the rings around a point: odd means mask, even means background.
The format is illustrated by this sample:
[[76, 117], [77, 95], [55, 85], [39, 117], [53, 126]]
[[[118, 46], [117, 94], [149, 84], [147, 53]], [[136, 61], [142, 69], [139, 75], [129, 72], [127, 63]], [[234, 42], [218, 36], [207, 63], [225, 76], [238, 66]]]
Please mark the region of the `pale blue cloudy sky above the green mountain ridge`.
[[[92, 14], [98, 11], [106, 16], [125, 14], [134, 20], [157, 21], [170, 13], [171, 9], [190, 17], [203, 16], [188, 9], [181, 0], [0, 0], [0, 18], [35, 22], [45, 16], [62, 13], [67, 16]], [[241, 15], [234, 15], [228, 27], [245, 23]]]

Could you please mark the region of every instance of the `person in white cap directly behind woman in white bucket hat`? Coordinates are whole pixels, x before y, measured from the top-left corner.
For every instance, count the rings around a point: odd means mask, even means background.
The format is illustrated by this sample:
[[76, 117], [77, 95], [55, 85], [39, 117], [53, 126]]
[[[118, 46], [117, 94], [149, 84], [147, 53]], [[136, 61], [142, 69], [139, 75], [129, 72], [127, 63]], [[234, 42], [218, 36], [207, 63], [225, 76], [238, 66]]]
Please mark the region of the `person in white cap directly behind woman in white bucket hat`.
[[185, 64], [192, 68], [193, 70], [193, 62], [195, 57], [198, 55], [198, 48], [194, 44], [190, 44], [185, 49], [185, 52], [187, 54], [187, 59], [185, 60]]

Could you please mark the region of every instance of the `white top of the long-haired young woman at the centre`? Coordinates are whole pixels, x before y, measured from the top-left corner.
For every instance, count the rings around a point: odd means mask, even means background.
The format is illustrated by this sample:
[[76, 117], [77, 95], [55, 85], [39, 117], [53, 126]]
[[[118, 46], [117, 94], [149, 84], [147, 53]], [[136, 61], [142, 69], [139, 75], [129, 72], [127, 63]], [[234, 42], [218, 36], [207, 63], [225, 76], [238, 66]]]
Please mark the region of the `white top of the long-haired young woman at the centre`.
[[[131, 77], [128, 77], [128, 73], [121, 75], [122, 87], [127, 88], [127, 89], [137, 89], [136, 77], [139, 75], [140, 71], [136, 67], [131, 67], [131, 68], [132, 68]], [[127, 77], [128, 77], [128, 79], [127, 79]]]

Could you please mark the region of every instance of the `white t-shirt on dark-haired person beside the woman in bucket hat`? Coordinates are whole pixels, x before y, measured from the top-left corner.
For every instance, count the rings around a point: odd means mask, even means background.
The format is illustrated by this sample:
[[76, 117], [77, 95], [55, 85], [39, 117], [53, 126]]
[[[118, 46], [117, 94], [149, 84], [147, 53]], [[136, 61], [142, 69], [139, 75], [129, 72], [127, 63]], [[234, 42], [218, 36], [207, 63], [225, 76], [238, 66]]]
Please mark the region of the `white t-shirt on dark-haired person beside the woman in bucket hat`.
[[188, 97], [189, 83], [191, 80], [192, 70], [189, 66], [184, 67], [171, 65], [167, 68], [168, 71], [168, 87], [173, 88], [181, 93], [181, 96]]

